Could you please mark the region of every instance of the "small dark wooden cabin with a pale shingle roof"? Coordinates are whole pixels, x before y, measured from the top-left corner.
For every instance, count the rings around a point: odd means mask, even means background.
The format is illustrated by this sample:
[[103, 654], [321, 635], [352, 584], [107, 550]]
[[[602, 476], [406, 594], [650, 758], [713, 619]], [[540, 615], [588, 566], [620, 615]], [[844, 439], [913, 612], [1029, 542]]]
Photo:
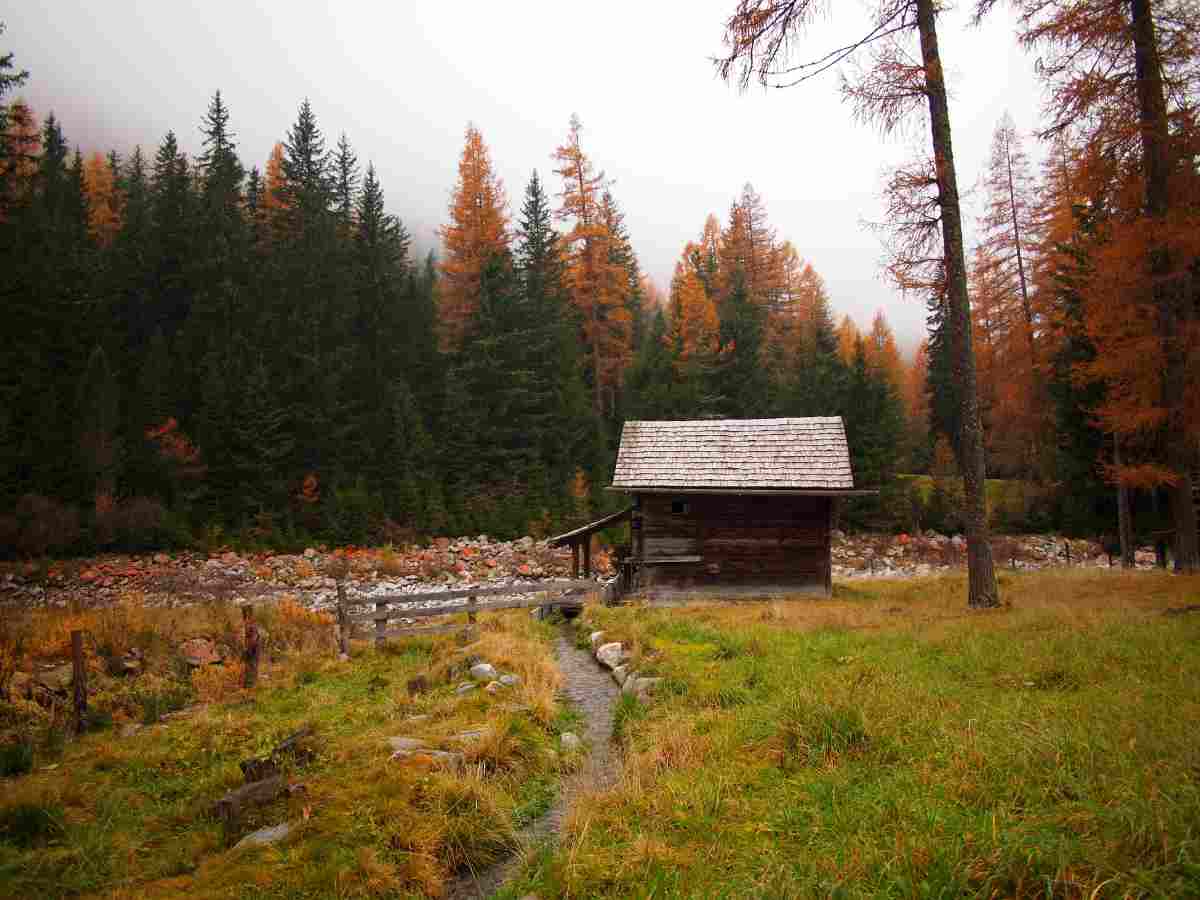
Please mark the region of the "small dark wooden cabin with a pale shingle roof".
[[612, 490], [632, 497], [628, 589], [650, 598], [829, 596], [834, 502], [872, 493], [841, 416], [625, 422]]

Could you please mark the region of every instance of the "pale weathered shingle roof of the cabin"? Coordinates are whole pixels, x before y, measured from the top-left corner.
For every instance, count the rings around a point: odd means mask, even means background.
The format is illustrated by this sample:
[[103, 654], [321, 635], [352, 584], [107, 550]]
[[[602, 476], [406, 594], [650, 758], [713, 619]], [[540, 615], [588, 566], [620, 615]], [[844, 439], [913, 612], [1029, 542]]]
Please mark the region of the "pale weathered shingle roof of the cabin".
[[625, 422], [612, 486], [853, 490], [841, 416]]

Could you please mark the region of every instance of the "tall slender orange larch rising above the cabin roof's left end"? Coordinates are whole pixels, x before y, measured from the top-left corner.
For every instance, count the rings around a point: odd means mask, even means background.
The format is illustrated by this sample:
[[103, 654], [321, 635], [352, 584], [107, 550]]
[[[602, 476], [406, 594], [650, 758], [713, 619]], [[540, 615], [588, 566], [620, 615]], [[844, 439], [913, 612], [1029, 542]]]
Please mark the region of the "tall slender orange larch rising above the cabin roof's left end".
[[628, 272], [613, 258], [614, 235], [602, 210], [604, 173], [595, 172], [580, 145], [582, 128], [578, 116], [572, 115], [566, 143], [552, 157], [558, 163], [554, 174], [563, 180], [556, 215], [571, 223], [563, 239], [566, 284], [582, 323], [593, 407], [605, 415], [616, 407], [617, 389], [632, 356], [632, 319], [625, 306]]

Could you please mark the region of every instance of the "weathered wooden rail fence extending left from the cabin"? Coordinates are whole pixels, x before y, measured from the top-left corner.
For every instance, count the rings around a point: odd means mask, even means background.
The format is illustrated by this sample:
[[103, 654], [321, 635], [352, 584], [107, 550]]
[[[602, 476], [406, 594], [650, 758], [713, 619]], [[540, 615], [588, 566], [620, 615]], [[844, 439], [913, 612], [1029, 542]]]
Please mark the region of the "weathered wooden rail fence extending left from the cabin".
[[[346, 598], [342, 584], [337, 586], [337, 624], [342, 652], [346, 652], [346, 640], [349, 626], [360, 622], [374, 623], [376, 644], [382, 644], [389, 637], [412, 637], [415, 635], [450, 631], [461, 625], [454, 623], [426, 628], [388, 628], [391, 619], [425, 619], [437, 616], [467, 614], [467, 623], [475, 622], [481, 612], [496, 610], [518, 610], [530, 606], [576, 606], [583, 601], [582, 593], [602, 590], [604, 586], [589, 580], [544, 581], [536, 584], [521, 584], [494, 588], [461, 588], [456, 590], [430, 590], [420, 594], [386, 594], [383, 596], [353, 599]], [[553, 600], [541, 598], [541, 594], [571, 592], [571, 596], [559, 596]], [[480, 598], [500, 596], [503, 600], [480, 602]], [[450, 600], [466, 600], [464, 604], [451, 604]], [[413, 604], [434, 604], [432, 606], [414, 606]], [[374, 612], [350, 613], [350, 606], [374, 605]], [[394, 607], [394, 608], [389, 608]]]

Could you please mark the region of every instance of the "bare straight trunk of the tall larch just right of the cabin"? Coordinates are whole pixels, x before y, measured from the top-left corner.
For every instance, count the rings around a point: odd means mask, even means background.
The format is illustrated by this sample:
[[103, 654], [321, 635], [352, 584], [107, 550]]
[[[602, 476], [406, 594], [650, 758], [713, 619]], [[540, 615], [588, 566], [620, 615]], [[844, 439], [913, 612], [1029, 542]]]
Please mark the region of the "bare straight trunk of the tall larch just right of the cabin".
[[967, 532], [967, 605], [972, 608], [986, 608], [1000, 606], [1000, 588], [996, 586], [996, 569], [991, 558], [991, 544], [988, 540], [983, 428], [979, 422], [974, 352], [971, 346], [971, 301], [967, 296], [966, 258], [962, 252], [962, 212], [959, 209], [959, 184], [954, 172], [946, 79], [937, 52], [934, 1], [917, 0], [917, 29], [920, 32], [920, 55], [925, 67], [925, 91], [929, 97], [929, 121], [942, 208], [947, 323], [950, 326], [953, 365], [959, 383], [962, 414], [959, 468], [962, 472], [962, 488], [966, 494], [964, 514]]

